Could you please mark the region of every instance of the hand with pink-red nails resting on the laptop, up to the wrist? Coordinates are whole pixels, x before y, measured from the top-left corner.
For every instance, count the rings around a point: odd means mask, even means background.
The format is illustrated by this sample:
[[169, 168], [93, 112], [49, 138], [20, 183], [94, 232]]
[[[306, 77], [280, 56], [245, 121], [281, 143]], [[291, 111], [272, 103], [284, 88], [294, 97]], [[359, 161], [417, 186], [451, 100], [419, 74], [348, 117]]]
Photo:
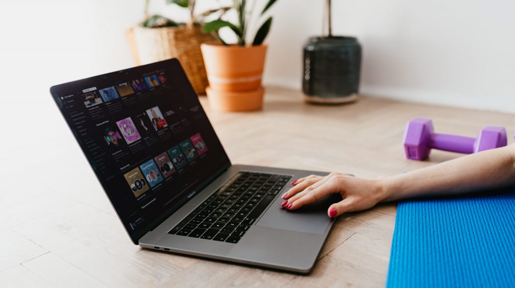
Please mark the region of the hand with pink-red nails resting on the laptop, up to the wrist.
[[329, 217], [336, 217], [344, 212], [372, 208], [385, 196], [384, 189], [377, 180], [367, 180], [333, 172], [328, 176], [311, 175], [300, 178], [282, 195], [285, 199], [281, 206], [289, 210], [317, 201], [330, 193], [340, 193], [342, 201], [334, 203], [328, 209]]

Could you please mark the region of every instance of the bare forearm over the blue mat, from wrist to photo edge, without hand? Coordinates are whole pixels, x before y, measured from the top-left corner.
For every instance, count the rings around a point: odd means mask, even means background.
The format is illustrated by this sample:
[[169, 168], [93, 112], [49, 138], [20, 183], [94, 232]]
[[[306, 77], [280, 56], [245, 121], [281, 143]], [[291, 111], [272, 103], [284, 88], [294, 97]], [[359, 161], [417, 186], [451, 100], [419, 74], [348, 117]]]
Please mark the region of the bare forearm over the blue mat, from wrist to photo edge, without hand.
[[515, 185], [515, 144], [385, 177], [379, 185], [384, 202]]

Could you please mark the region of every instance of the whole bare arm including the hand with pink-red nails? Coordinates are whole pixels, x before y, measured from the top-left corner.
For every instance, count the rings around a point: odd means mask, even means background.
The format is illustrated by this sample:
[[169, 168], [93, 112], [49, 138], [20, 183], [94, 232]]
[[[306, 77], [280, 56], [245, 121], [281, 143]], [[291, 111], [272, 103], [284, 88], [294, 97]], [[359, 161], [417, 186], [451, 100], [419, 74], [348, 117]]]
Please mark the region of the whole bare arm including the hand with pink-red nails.
[[286, 201], [282, 206], [287, 209], [340, 193], [344, 200], [329, 207], [330, 217], [368, 209], [379, 202], [515, 185], [515, 144], [376, 180], [331, 173], [301, 178], [294, 185], [283, 195]]

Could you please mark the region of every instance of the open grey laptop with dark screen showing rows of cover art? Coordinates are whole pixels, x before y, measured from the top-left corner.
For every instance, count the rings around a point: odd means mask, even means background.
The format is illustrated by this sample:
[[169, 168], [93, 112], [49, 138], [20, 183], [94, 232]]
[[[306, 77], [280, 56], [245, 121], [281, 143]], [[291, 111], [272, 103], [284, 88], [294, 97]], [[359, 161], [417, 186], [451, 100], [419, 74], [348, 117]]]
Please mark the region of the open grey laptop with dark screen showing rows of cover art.
[[177, 59], [50, 93], [134, 244], [311, 271], [341, 196], [288, 211], [281, 195], [327, 173], [232, 164]]

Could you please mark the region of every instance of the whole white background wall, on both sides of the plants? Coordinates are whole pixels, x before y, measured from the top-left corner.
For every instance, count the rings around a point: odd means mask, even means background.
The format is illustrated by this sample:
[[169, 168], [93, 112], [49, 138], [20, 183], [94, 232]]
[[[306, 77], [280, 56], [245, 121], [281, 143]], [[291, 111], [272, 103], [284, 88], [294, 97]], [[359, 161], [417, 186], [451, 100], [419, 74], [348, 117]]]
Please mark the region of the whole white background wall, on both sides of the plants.
[[[185, 16], [162, 2], [153, 0], [152, 11]], [[52, 84], [133, 65], [124, 31], [141, 19], [143, 3], [0, 2], [0, 76], [12, 84], [4, 85], [8, 94], [40, 103], [49, 100]], [[300, 88], [302, 46], [321, 32], [322, 4], [280, 0], [272, 8], [265, 83]], [[333, 6], [334, 33], [355, 35], [363, 45], [363, 94], [515, 112], [513, 0], [333, 0]]]

